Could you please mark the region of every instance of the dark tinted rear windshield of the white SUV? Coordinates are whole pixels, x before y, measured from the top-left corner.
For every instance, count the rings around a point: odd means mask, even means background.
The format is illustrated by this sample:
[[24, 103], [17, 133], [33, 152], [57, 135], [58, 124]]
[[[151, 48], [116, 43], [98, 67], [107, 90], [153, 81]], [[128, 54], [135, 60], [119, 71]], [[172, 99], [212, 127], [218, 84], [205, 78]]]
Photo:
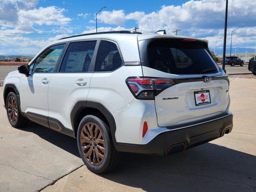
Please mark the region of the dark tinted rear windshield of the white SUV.
[[148, 46], [150, 68], [170, 74], [216, 73], [207, 44], [183, 39], [158, 39]]

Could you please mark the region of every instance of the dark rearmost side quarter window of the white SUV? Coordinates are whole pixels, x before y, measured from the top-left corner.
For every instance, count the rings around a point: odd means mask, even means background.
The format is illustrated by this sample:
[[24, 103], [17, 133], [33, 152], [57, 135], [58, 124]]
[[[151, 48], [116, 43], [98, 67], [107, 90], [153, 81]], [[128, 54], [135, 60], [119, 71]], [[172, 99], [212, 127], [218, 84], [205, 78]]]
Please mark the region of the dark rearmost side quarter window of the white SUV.
[[122, 65], [122, 59], [116, 44], [109, 41], [101, 41], [98, 50], [95, 71], [108, 72], [114, 71]]

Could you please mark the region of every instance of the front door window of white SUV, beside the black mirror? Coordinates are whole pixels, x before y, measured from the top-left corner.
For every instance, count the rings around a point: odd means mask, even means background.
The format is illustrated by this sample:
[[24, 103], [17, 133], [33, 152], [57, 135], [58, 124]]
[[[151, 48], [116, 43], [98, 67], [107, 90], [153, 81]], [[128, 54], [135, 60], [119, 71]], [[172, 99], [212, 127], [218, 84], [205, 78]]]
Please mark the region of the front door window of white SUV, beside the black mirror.
[[62, 45], [52, 46], [46, 49], [36, 59], [32, 72], [34, 73], [53, 72], [64, 46], [65, 45], [62, 44]]

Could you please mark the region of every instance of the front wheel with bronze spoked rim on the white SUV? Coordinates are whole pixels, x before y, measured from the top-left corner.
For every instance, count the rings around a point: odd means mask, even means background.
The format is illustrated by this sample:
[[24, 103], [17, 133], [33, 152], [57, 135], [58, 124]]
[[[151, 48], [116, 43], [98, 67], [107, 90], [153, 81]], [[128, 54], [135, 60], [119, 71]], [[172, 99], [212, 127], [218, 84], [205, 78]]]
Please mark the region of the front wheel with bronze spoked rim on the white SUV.
[[20, 128], [29, 123], [29, 120], [20, 113], [20, 105], [17, 95], [10, 92], [6, 99], [6, 113], [12, 127]]

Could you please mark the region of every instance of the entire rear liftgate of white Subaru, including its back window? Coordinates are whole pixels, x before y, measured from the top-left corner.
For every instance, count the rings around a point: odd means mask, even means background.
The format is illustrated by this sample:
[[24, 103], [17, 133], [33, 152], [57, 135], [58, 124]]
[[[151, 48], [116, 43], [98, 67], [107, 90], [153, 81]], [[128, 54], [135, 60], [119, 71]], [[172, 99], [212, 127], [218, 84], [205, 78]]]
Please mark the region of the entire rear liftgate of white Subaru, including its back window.
[[228, 76], [218, 68], [206, 42], [162, 38], [148, 42], [147, 49], [146, 57], [140, 51], [143, 75], [174, 82], [156, 92], [159, 126], [193, 122], [227, 110]]

